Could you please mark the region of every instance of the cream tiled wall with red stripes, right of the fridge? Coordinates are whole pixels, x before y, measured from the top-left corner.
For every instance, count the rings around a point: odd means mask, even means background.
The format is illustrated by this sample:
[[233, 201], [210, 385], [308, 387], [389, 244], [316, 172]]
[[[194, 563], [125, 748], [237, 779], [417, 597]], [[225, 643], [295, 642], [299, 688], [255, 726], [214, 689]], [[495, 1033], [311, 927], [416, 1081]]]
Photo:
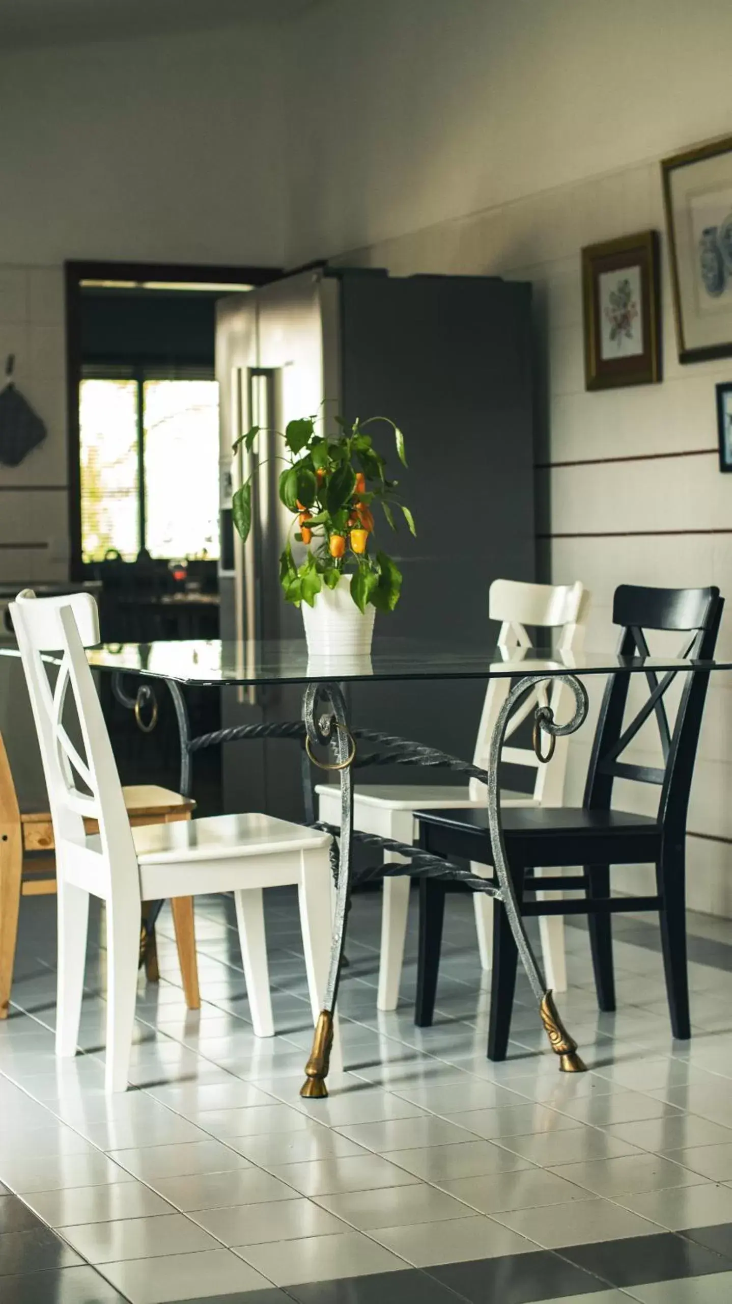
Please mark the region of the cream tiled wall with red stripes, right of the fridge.
[[[620, 582], [718, 584], [732, 605], [732, 476], [716, 459], [715, 383], [732, 379], [732, 359], [681, 366], [676, 353], [666, 241], [663, 252], [663, 383], [585, 391], [582, 361], [582, 245], [654, 227], [663, 233], [658, 163], [634, 166], [561, 186], [500, 209], [440, 223], [348, 254], [344, 262], [392, 273], [494, 273], [534, 286], [538, 344], [539, 462], [628, 458], [699, 450], [694, 456], [554, 467], [539, 472], [548, 492], [551, 571], [581, 579], [594, 596], [589, 648], [615, 647], [611, 622]], [[659, 531], [689, 533], [659, 533]], [[620, 537], [556, 537], [628, 532]], [[645, 531], [651, 533], [634, 535]], [[732, 655], [732, 617], [720, 652]], [[641, 686], [636, 687], [636, 692]], [[568, 799], [581, 799], [589, 739], [602, 683], [591, 686], [593, 713], [570, 743]], [[712, 685], [689, 811], [689, 829], [732, 838], [732, 678]], [[646, 745], [647, 746], [647, 745]], [[658, 763], [651, 760], [650, 763]], [[619, 788], [619, 799], [646, 810], [651, 794]], [[732, 915], [732, 846], [688, 840], [689, 904]], [[651, 891], [647, 874], [616, 871], [616, 882]]]

